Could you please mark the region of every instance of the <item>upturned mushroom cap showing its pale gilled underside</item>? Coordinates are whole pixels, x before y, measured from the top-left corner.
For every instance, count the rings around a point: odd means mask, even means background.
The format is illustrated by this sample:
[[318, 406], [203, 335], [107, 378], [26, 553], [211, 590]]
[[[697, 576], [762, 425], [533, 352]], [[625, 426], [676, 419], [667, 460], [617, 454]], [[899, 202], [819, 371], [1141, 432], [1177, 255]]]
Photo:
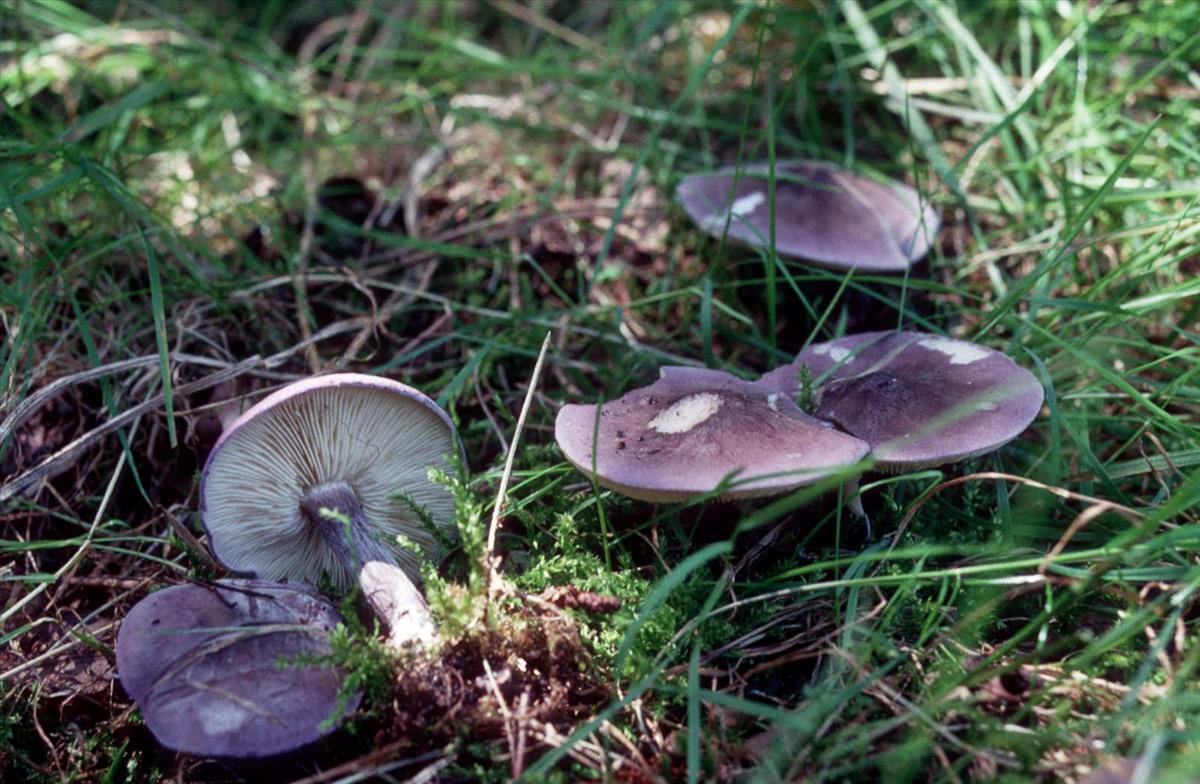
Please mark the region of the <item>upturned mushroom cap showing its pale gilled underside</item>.
[[382, 561], [415, 579], [418, 558], [396, 537], [432, 550], [413, 504], [449, 528], [454, 499], [428, 469], [454, 454], [449, 417], [412, 387], [317, 376], [266, 396], [222, 435], [200, 477], [200, 516], [214, 555], [236, 571], [325, 574], [348, 588], [361, 564]]

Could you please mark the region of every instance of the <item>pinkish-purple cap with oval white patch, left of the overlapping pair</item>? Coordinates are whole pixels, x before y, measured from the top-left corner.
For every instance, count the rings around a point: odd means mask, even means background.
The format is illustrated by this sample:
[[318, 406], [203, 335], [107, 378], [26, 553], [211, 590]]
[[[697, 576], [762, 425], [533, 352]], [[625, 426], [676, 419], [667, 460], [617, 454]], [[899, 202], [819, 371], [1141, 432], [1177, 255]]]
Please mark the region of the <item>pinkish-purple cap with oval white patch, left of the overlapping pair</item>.
[[599, 407], [563, 406], [554, 438], [566, 460], [605, 487], [666, 502], [718, 487], [721, 498], [786, 492], [868, 453], [755, 382], [695, 367], [661, 375]]

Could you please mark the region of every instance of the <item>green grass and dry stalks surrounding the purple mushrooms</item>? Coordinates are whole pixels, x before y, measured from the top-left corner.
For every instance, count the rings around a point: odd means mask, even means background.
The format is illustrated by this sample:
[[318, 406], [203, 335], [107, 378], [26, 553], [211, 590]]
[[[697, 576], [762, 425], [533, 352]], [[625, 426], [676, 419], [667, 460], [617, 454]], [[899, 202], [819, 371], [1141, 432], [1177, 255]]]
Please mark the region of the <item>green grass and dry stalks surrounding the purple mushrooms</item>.
[[[210, 574], [187, 539], [220, 403], [314, 369], [414, 384], [461, 429], [486, 520], [552, 330], [499, 551], [526, 591], [624, 604], [580, 618], [611, 694], [530, 743], [530, 777], [1024, 782], [1129, 756], [1188, 780], [1198, 22], [1188, 2], [7, 4], [0, 485], [72, 449], [0, 490], [0, 778], [199, 770], [103, 678], [134, 600]], [[436, 145], [419, 235], [319, 192], [358, 178], [402, 215]], [[686, 173], [802, 156], [928, 192], [929, 262], [829, 273], [672, 202]], [[649, 507], [553, 444], [558, 405], [661, 364], [752, 376], [893, 325], [1006, 352], [1046, 407], [994, 455], [868, 474], [874, 538], [835, 490]], [[449, 754], [510, 772], [503, 737]]]

